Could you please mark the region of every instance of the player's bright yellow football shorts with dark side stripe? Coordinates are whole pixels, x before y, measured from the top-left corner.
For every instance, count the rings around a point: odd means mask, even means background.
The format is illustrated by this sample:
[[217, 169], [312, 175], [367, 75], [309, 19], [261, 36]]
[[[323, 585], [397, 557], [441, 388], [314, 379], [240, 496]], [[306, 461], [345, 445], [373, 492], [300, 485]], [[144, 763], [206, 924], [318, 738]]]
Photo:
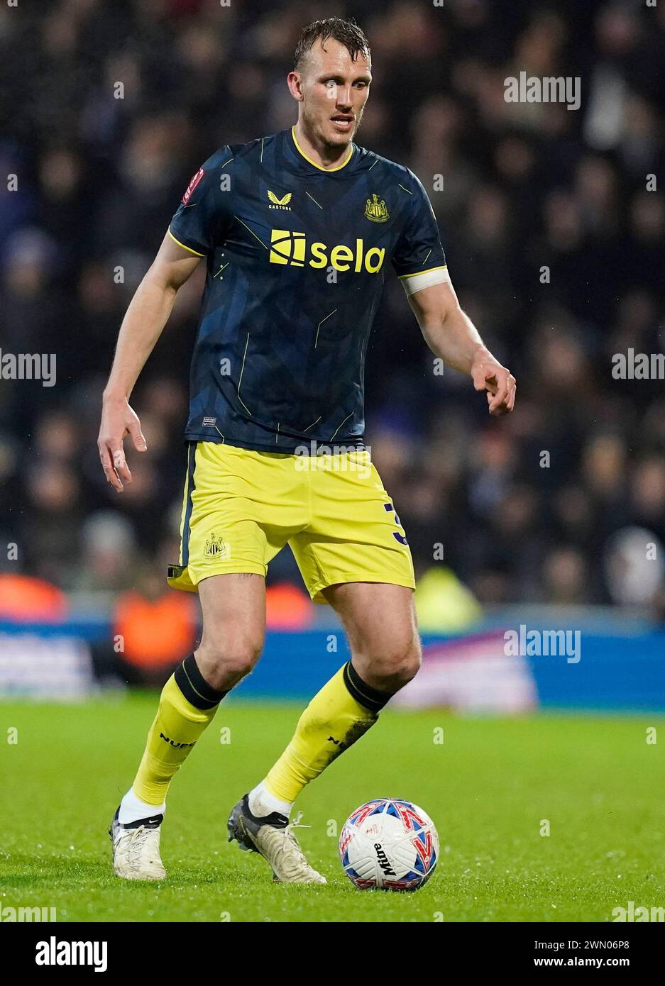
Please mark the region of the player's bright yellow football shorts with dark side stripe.
[[191, 442], [169, 584], [196, 592], [211, 575], [265, 576], [287, 543], [316, 602], [343, 582], [414, 588], [404, 528], [368, 451], [299, 456]]

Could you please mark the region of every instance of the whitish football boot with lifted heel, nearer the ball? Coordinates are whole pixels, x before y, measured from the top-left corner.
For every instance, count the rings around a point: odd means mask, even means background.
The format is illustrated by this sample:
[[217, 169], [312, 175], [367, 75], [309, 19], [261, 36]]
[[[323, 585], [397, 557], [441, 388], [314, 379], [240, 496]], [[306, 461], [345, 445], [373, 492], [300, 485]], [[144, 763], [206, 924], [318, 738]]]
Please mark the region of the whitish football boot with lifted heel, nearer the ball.
[[326, 883], [305, 859], [305, 854], [293, 834], [301, 815], [289, 822], [284, 814], [273, 811], [257, 817], [250, 811], [249, 796], [245, 795], [229, 815], [229, 842], [234, 839], [241, 849], [259, 853], [272, 867], [272, 879], [279, 883]]

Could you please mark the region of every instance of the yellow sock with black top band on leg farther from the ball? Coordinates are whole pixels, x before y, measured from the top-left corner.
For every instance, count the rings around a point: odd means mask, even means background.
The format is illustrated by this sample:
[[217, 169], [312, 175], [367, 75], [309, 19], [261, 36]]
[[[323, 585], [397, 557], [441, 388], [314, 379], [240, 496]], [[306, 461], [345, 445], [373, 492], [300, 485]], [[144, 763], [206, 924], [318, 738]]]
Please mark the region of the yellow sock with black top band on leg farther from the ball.
[[192, 654], [164, 685], [150, 727], [134, 794], [148, 805], [162, 805], [171, 780], [194, 743], [212, 722], [225, 691], [211, 688]]

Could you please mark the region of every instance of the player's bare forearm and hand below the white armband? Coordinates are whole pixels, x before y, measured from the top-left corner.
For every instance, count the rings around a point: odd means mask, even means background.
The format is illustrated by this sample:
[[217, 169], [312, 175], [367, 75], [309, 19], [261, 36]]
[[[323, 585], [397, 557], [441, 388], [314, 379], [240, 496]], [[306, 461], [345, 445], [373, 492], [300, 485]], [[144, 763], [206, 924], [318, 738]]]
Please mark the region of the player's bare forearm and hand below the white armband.
[[469, 374], [477, 390], [487, 391], [489, 413], [512, 411], [515, 378], [484, 345], [473, 321], [460, 308], [450, 280], [415, 291], [408, 296], [408, 304], [434, 355], [446, 366]]

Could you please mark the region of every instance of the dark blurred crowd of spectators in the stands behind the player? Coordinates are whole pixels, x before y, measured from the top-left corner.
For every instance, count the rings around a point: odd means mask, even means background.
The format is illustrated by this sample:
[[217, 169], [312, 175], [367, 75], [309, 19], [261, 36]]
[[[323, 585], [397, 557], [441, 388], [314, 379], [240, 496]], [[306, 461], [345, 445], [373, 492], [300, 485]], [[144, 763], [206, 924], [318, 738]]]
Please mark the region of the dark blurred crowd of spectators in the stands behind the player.
[[[57, 383], [0, 380], [0, 571], [162, 591], [204, 271], [132, 396], [149, 453], [121, 496], [96, 446], [117, 330], [200, 163], [295, 121], [295, 41], [333, 14], [372, 46], [356, 142], [420, 177], [463, 307], [518, 381], [490, 419], [387, 277], [366, 435], [418, 574], [445, 565], [482, 604], [662, 605], [665, 385], [615, 379], [612, 357], [665, 352], [665, 3], [611, 0], [3, 5], [0, 349], [56, 353]], [[520, 71], [579, 77], [580, 108], [506, 103]], [[302, 585], [288, 549], [269, 579]]]

